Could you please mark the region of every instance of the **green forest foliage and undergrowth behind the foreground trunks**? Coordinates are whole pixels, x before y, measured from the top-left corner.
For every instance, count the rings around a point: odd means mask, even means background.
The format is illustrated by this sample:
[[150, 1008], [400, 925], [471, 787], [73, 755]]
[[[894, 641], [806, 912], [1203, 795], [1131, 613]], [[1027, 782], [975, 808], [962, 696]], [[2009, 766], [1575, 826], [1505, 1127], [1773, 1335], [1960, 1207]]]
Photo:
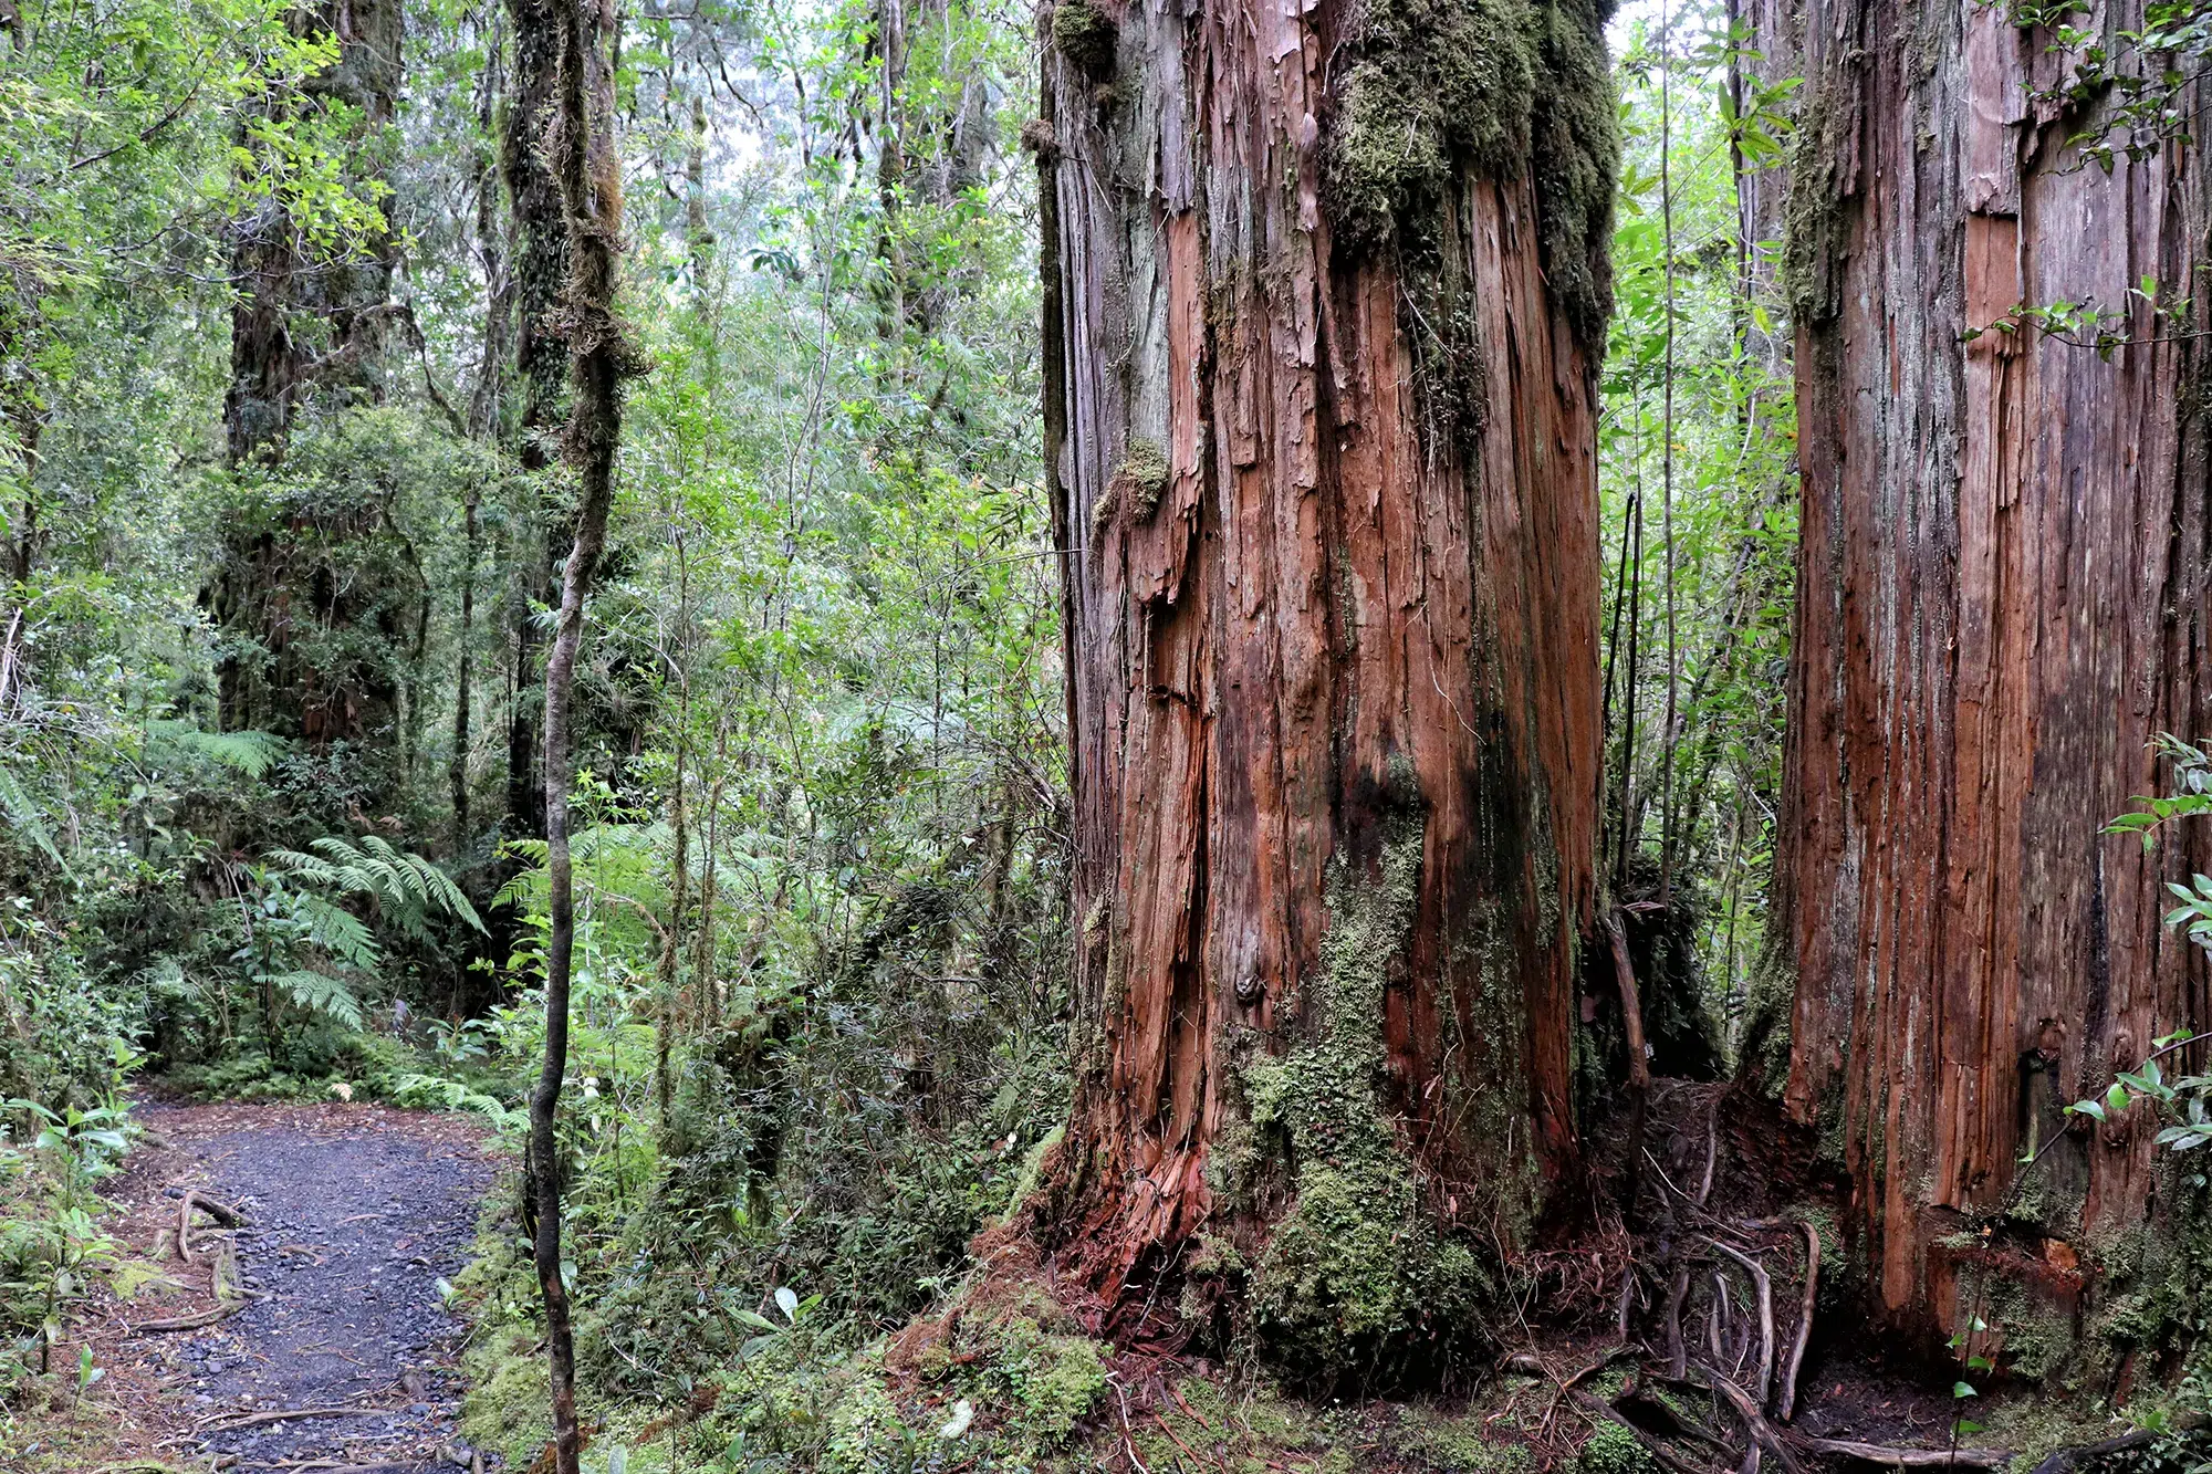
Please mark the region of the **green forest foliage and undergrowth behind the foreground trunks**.
[[[341, 38], [276, 0], [0, 0], [0, 1383], [108, 1253], [139, 1080], [520, 1144], [575, 505], [531, 4], [356, 0]], [[1732, 11], [1608, 29], [1599, 865], [1655, 1069], [1694, 1082], [1772, 1042], [1798, 527], [1781, 230], [1745, 204], [1798, 82]], [[650, 0], [613, 62], [641, 374], [573, 717], [580, 1381], [633, 1470], [953, 1467], [854, 1368], [1068, 1111], [1040, 24]], [[544, 1439], [522, 1217], [487, 1208], [456, 1290], [511, 1467]], [[960, 1354], [998, 1467], [1106, 1385], [1037, 1308]]]

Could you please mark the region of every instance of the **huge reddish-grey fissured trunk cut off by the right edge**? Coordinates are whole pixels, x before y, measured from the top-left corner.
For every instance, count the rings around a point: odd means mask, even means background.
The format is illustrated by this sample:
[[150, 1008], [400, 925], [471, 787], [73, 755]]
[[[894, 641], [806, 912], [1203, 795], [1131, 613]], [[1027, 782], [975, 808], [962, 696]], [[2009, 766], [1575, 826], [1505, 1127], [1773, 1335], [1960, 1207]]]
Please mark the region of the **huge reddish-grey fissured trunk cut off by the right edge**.
[[[2064, 1102], [2208, 1023], [2159, 925], [2183, 857], [2099, 834], [2159, 790], [2150, 737], [2208, 717], [2201, 162], [2086, 164], [2066, 139], [2095, 115], [2024, 86], [2062, 82], [2053, 33], [2004, 7], [1803, 11], [1778, 1000], [1796, 976], [1787, 1065], [1778, 1031], [1752, 1065], [1847, 1169], [1880, 1306], [1936, 1335], [1980, 1306], [2046, 1374], [2084, 1290], [2163, 1253], [2148, 1111], [2068, 1133]], [[2199, 305], [2132, 303], [2110, 359], [2013, 316], [2126, 308], [2146, 274]]]

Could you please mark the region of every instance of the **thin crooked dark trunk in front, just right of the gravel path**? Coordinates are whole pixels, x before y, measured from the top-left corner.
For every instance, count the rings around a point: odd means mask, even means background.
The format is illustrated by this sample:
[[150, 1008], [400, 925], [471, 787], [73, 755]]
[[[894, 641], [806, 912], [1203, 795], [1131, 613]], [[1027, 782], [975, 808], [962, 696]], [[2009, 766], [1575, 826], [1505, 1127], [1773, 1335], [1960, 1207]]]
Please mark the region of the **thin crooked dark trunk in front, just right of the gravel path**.
[[546, 655], [546, 1058], [531, 1091], [531, 1175], [538, 1204], [535, 1268], [546, 1308], [546, 1359], [553, 1379], [555, 1474], [577, 1474], [582, 1450], [575, 1421], [575, 1341], [568, 1288], [560, 1273], [562, 1180], [555, 1115], [568, 1069], [568, 978], [575, 961], [575, 876], [568, 859], [568, 699], [584, 644], [584, 600], [606, 547], [615, 500], [615, 451], [622, 440], [622, 381], [635, 372], [635, 350], [615, 316], [622, 248], [622, 159], [615, 148], [615, 82], [608, 62], [613, 7], [602, 0], [551, 0], [531, 24], [551, 38], [526, 38], [518, 15], [518, 49], [551, 44], [557, 55], [555, 106], [544, 153], [557, 166], [568, 232], [564, 328], [575, 403], [566, 449], [577, 476], [575, 547], [562, 573], [560, 622]]

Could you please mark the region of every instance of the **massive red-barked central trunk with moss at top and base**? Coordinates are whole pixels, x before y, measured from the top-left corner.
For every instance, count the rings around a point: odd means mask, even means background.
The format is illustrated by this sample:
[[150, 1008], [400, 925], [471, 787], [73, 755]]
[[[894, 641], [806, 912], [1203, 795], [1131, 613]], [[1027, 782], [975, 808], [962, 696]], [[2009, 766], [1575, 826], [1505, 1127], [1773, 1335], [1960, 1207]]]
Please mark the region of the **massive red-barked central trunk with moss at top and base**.
[[1371, 1368], [1458, 1335], [1473, 1246], [1577, 1164], [1599, 18], [1044, 24], [1082, 1031], [1046, 1217], [1110, 1330], [1181, 1273]]

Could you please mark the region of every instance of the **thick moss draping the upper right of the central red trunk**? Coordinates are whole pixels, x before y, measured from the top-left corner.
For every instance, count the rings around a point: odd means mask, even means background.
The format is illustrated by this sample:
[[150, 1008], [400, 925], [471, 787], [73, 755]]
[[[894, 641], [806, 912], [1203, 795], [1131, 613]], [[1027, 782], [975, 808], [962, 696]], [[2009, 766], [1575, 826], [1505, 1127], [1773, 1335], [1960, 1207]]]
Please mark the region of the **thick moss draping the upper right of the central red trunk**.
[[1462, 170], [1533, 175], [1544, 270], [1586, 347], [1613, 310], [1619, 124], [1595, 0], [1371, 0], [1325, 181], [1352, 248], [1433, 248]]

